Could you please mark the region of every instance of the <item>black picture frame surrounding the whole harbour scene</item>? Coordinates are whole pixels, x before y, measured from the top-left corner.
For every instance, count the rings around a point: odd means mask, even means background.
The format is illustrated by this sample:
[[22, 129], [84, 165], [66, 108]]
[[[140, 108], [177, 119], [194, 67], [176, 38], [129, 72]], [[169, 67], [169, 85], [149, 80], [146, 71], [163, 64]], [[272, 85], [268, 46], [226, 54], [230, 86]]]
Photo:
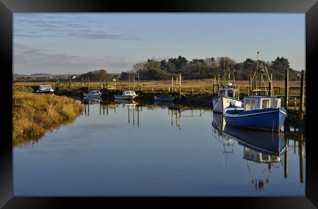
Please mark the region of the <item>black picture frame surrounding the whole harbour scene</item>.
[[[142, 5], [142, 6], [141, 6]], [[317, 0], [219, 0], [219, 1], [160, 1], [160, 2], [126, 2], [126, 1], [84, 1], [84, 0], [0, 0], [0, 52], [2, 61], [2, 72], [5, 77], [1, 79], [2, 86], [8, 87], [12, 81], [9, 79], [12, 74], [13, 53], [12, 53], [12, 23], [15, 12], [282, 12], [282, 13], [306, 13], [306, 86], [314, 85], [317, 59], [315, 56], [318, 49], [318, 2]], [[4, 64], [4, 65], [3, 65]], [[7, 64], [7, 65], [6, 65]], [[3, 66], [8, 66], [4, 68]], [[309, 82], [309, 83], [308, 83]], [[180, 203], [186, 206], [201, 207], [205, 203], [208, 207], [236, 207], [236, 208], [317, 208], [317, 167], [318, 157], [315, 153], [315, 137], [313, 130], [317, 122], [313, 120], [317, 114], [313, 107], [318, 102], [311, 95], [312, 89], [306, 88], [306, 196], [305, 197], [13, 197], [12, 185], [12, 132], [10, 123], [4, 123], [2, 130], [5, 130], [6, 137], [2, 140], [1, 163], [0, 163], [0, 207], [3, 208], [82, 208], [88, 204], [102, 204], [103, 207], [115, 204], [119, 207], [125, 204], [129, 207], [140, 208], [142, 203], [146, 206], [166, 207], [179, 206]], [[5, 98], [0, 100], [3, 112], [7, 118], [12, 118], [12, 93], [3, 88]], [[11, 98], [11, 99], [10, 99]], [[11, 110], [11, 112], [9, 111]], [[310, 114], [308, 114], [310, 113]], [[4, 120], [6, 121], [6, 120]], [[10, 121], [8, 119], [8, 121]], [[12, 127], [11, 127], [12, 128]], [[10, 138], [11, 136], [11, 138]], [[195, 205], [189, 205], [194, 203]], [[135, 204], [135, 205], [131, 205]], [[220, 205], [219, 205], [220, 204]], [[202, 205], [203, 206], [203, 205]]]

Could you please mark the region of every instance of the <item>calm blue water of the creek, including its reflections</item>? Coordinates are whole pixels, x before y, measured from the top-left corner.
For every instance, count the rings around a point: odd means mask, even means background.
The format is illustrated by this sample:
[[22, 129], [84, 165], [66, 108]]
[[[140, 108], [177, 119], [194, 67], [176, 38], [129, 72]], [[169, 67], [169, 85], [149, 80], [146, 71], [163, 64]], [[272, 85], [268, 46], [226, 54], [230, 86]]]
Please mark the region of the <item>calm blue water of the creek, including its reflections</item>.
[[305, 196], [299, 137], [227, 129], [206, 108], [84, 105], [14, 148], [14, 196]]

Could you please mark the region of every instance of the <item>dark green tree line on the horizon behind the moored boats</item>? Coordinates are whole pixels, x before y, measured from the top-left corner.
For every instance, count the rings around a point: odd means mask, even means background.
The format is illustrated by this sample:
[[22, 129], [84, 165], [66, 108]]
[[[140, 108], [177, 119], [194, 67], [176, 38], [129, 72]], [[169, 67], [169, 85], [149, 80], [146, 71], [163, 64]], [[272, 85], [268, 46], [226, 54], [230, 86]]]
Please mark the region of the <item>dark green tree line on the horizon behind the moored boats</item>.
[[[285, 70], [289, 69], [290, 80], [299, 80], [299, 71], [293, 70], [289, 66], [289, 61], [285, 57], [277, 57], [272, 62], [258, 60], [258, 65], [263, 64], [269, 73], [273, 73], [274, 80], [283, 80]], [[122, 72], [121, 79], [128, 79], [129, 73], [139, 71], [140, 80], [165, 80], [182, 73], [183, 79], [204, 79], [212, 78], [214, 75], [223, 75], [224, 70], [234, 72], [236, 80], [249, 80], [249, 76], [257, 67], [257, 61], [247, 58], [244, 62], [237, 63], [229, 57], [207, 57], [205, 59], [193, 59], [188, 61], [185, 57], [170, 58], [168, 61], [151, 60], [133, 65], [132, 70]], [[232, 74], [232, 73], [231, 73]], [[232, 77], [232, 75], [231, 75]]]

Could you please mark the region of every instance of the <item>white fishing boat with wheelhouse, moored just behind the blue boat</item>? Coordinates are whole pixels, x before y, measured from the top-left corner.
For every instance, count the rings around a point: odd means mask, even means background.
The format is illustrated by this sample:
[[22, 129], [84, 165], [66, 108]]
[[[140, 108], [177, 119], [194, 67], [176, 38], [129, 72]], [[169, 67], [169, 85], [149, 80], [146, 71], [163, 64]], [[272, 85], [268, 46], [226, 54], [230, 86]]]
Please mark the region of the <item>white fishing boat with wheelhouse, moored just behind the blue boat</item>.
[[233, 103], [237, 107], [242, 106], [242, 101], [238, 99], [237, 89], [220, 89], [218, 95], [212, 99], [213, 110], [217, 113], [223, 113], [223, 110]]

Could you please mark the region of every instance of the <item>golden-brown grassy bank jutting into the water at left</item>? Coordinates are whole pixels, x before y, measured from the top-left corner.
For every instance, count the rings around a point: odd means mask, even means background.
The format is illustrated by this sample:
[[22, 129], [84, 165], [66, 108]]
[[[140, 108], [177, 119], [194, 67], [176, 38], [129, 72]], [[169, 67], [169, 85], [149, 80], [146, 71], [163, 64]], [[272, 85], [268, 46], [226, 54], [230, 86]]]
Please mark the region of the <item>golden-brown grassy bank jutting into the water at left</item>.
[[27, 144], [61, 124], [68, 124], [83, 106], [66, 96], [36, 94], [28, 87], [13, 87], [13, 145]]

